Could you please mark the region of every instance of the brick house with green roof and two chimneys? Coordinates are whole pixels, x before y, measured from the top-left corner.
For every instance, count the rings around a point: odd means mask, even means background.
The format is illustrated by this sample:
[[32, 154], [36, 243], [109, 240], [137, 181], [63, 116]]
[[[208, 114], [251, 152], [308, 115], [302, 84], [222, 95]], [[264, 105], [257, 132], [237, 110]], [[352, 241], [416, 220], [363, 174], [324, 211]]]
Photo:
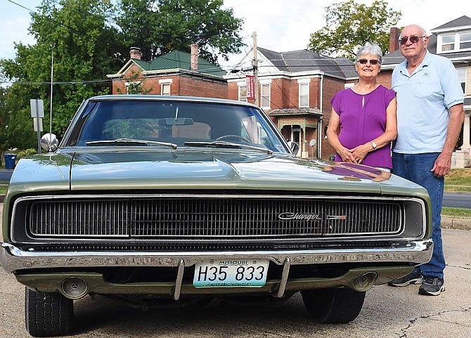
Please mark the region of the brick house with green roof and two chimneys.
[[107, 75], [113, 94], [227, 97], [226, 72], [199, 57], [196, 44], [191, 53], [174, 50], [150, 61], [141, 60], [141, 49], [132, 47], [130, 56], [119, 72]]

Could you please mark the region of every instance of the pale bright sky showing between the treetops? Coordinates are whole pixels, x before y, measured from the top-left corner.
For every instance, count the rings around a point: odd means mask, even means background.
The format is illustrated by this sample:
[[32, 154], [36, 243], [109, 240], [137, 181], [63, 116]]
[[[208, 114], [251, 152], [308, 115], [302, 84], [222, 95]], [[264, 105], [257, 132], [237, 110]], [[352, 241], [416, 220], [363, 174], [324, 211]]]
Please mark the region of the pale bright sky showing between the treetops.
[[[257, 32], [257, 46], [271, 51], [297, 51], [307, 48], [310, 34], [325, 26], [325, 7], [342, 0], [224, 0], [225, 8], [233, 8], [234, 15], [244, 20], [241, 36], [252, 46], [252, 34]], [[469, 0], [390, 0], [389, 8], [401, 11], [398, 27], [411, 23], [430, 31], [463, 15], [471, 17]], [[0, 0], [0, 58], [14, 58], [14, 42], [34, 44], [29, 34], [30, 11], [41, 0]], [[356, 0], [370, 5], [371, 0]], [[25, 8], [23, 8], [23, 7]], [[28, 8], [28, 9], [26, 9]], [[221, 65], [231, 67], [243, 54], [231, 56]]]

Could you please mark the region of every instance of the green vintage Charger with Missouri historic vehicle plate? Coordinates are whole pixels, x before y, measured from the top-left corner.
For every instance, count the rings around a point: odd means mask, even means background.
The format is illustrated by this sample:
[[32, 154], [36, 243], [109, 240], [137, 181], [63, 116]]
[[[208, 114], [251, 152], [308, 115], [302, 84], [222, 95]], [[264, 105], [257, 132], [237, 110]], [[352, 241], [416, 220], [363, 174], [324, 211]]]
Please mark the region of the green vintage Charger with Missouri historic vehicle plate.
[[301, 292], [314, 320], [347, 323], [370, 287], [432, 254], [425, 189], [297, 158], [250, 103], [97, 96], [43, 142], [13, 171], [0, 250], [33, 336], [70, 332], [73, 302], [94, 294], [151, 307]]

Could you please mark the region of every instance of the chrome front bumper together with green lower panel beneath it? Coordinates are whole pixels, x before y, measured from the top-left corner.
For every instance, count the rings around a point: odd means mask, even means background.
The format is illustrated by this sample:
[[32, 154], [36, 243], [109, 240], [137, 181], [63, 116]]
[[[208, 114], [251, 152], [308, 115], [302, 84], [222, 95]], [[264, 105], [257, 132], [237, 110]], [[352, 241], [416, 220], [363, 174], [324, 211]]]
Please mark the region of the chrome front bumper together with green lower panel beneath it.
[[[27, 252], [8, 243], [1, 243], [0, 264], [8, 272], [15, 273], [18, 282], [39, 292], [64, 291], [67, 278], [79, 278], [86, 285], [85, 294], [161, 294], [178, 300], [183, 295], [195, 294], [247, 294], [269, 293], [281, 298], [286, 293], [316, 288], [350, 287], [366, 291], [373, 285], [381, 285], [411, 272], [412, 266], [423, 264], [432, 256], [432, 240], [418, 240], [382, 249], [309, 249], [251, 252]], [[257, 288], [212, 287], [195, 288], [183, 282], [185, 268], [203, 259], [269, 259], [283, 266], [278, 278], [267, 280]], [[289, 278], [290, 266], [298, 264], [368, 263], [368, 267], [351, 268], [335, 278]], [[387, 264], [387, 266], [385, 266]], [[101, 273], [70, 272], [70, 268], [93, 267], [174, 267], [173, 282], [113, 283]], [[67, 268], [69, 272], [58, 272]], [[47, 272], [54, 269], [55, 272]], [[368, 287], [357, 284], [366, 275], [373, 274]]]

